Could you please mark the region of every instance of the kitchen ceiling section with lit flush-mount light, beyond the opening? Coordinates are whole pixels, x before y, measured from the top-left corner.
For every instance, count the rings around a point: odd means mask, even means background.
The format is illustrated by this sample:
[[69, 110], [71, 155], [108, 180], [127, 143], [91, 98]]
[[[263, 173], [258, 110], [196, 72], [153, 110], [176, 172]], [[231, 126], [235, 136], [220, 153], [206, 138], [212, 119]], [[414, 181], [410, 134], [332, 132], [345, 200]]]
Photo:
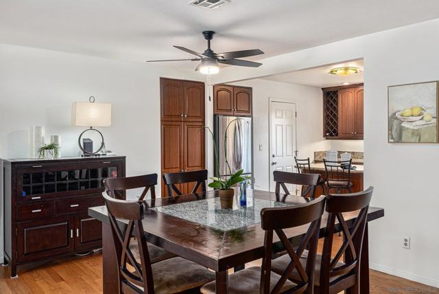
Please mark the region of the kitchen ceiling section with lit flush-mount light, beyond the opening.
[[[351, 74], [349, 76], [335, 76], [333, 74], [328, 74], [328, 72], [335, 67], [359, 67], [361, 71], [358, 74]], [[335, 65], [325, 65], [323, 67], [292, 71], [286, 74], [267, 76], [263, 79], [275, 80], [277, 82], [289, 82], [292, 84], [305, 84], [307, 86], [319, 88], [341, 86], [344, 82], [348, 82], [349, 84], [359, 84], [364, 82], [364, 65], [363, 60], [355, 60], [346, 63], [337, 63]]]

